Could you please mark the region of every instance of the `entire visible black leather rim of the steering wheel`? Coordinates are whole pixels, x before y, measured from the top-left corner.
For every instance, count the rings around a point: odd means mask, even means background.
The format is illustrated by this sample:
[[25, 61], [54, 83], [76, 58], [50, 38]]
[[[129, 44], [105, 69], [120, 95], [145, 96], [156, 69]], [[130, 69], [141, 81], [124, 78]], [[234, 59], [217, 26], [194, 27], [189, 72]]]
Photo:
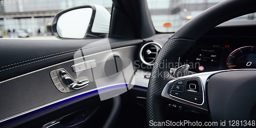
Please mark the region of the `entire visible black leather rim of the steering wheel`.
[[161, 92], [166, 83], [174, 77], [169, 73], [169, 69], [163, 66], [164, 63], [175, 62], [198, 38], [210, 29], [232, 18], [256, 12], [255, 4], [256, 1], [254, 0], [227, 0], [219, 3], [191, 19], [168, 39], [156, 58], [148, 83], [146, 97], [148, 127], [157, 127], [151, 126], [150, 121], [166, 121], [164, 119], [164, 108], [167, 104], [163, 100]]

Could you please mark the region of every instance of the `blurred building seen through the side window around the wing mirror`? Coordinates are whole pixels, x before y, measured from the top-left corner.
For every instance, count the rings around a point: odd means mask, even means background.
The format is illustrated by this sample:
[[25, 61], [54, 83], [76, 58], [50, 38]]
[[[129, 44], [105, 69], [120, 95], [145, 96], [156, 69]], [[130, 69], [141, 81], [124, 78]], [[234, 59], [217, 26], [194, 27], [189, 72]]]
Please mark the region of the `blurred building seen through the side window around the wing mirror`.
[[112, 7], [111, 0], [26, 0], [26, 3], [23, 0], [23, 5], [0, 6], [0, 30], [26, 30], [33, 36], [52, 35], [53, 17], [61, 10], [91, 4], [102, 5], [109, 11]]

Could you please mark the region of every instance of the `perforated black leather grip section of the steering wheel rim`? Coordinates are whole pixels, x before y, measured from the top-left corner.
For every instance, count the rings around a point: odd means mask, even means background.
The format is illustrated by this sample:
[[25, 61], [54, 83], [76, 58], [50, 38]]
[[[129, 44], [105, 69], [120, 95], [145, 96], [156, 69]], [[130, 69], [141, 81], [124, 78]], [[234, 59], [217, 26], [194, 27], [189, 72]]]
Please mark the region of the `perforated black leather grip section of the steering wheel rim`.
[[166, 67], [166, 63], [175, 62], [179, 56], [184, 54], [193, 44], [193, 40], [170, 39], [160, 50], [147, 88], [146, 111], [148, 127], [157, 127], [150, 126], [151, 120], [154, 122], [165, 121], [163, 114], [167, 103], [163, 100], [161, 93], [165, 84], [173, 79], [169, 68]]

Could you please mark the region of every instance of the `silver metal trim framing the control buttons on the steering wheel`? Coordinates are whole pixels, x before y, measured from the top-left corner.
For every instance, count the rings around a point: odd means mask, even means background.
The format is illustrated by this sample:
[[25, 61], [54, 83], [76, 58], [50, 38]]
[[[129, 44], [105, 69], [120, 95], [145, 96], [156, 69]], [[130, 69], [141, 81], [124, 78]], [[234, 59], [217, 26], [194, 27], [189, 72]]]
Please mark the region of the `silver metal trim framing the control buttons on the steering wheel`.
[[[214, 74], [217, 74], [217, 73], [222, 73], [222, 72], [230, 72], [230, 71], [242, 71], [242, 70], [255, 70], [256, 69], [234, 69], [234, 70], [222, 70], [222, 71], [213, 71], [213, 72], [204, 72], [204, 73], [197, 73], [197, 74], [192, 74], [192, 75], [188, 75], [188, 76], [183, 76], [183, 77], [179, 77], [179, 78], [175, 78], [173, 80], [170, 80], [164, 87], [163, 91], [162, 91], [162, 97], [165, 97], [165, 98], [168, 98], [168, 99], [172, 99], [172, 100], [175, 100], [175, 101], [178, 101], [178, 102], [181, 102], [181, 103], [184, 103], [186, 105], [190, 105], [190, 106], [195, 106], [196, 108], [199, 108], [199, 109], [202, 109], [202, 110], [205, 110], [205, 111], [208, 111], [207, 109], [207, 104], [205, 103], [206, 102], [206, 90], [205, 90], [205, 86], [206, 86], [206, 82], [208, 80], [208, 78]], [[168, 89], [169, 87], [171, 86], [171, 84], [176, 81], [176, 80], [179, 80], [179, 79], [184, 79], [184, 78], [191, 78], [191, 77], [198, 77], [201, 81], [201, 84], [202, 84], [202, 91], [203, 91], [203, 103], [202, 104], [197, 104], [197, 103], [194, 103], [194, 102], [190, 102], [190, 101], [187, 101], [187, 100], [184, 100], [184, 99], [181, 99], [179, 97], [175, 97], [175, 96], [172, 96], [172, 95], [169, 95], [168, 94]]]

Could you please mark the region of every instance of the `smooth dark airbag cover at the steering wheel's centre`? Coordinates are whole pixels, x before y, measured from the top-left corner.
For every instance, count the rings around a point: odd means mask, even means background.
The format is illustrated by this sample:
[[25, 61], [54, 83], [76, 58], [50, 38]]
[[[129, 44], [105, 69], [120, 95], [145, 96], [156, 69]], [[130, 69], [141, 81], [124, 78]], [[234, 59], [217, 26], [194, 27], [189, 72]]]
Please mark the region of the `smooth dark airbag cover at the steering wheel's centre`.
[[253, 120], [250, 117], [255, 116], [255, 78], [255, 70], [222, 72], [211, 76], [206, 89], [212, 121]]

